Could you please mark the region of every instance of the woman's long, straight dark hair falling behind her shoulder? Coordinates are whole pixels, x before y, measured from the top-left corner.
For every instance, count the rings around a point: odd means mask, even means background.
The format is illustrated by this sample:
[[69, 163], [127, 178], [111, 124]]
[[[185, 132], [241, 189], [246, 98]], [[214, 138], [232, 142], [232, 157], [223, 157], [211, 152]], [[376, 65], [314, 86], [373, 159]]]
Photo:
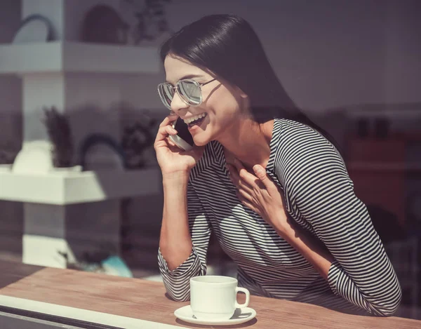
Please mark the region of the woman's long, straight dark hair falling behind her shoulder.
[[239, 87], [250, 100], [253, 119], [292, 119], [335, 140], [310, 120], [286, 93], [253, 27], [237, 15], [208, 15], [175, 32], [161, 46], [161, 60], [176, 55]]

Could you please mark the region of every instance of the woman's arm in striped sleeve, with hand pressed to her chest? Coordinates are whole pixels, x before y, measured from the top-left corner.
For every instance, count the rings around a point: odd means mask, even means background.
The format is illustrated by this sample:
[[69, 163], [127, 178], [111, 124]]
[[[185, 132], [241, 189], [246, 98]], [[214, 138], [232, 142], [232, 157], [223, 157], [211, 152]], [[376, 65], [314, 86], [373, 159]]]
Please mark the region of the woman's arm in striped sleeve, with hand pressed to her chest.
[[301, 123], [282, 132], [276, 175], [269, 173], [282, 181], [286, 200], [262, 166], [253, 166], [252, 175], [234, 159], [228, 167], [239, 200], [298, 250], [333, 293], [372, 314], [393, 314], [401, 288], [342, 159], [324, 137]]

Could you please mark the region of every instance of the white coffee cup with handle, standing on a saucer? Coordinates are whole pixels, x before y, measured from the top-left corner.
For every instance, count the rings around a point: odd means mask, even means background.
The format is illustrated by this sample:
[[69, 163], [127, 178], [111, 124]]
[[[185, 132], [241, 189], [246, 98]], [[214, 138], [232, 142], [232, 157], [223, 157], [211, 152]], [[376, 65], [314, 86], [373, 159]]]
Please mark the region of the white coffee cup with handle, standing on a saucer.
[[[236, 309], [248, 307], [250, 292], [239, 288], [230, 276], [195, 276], [190, 278], [190, 307], [199, 320], [227, 320]], [[239, 291], [246, 294], [246, 302], [236, 301]]]

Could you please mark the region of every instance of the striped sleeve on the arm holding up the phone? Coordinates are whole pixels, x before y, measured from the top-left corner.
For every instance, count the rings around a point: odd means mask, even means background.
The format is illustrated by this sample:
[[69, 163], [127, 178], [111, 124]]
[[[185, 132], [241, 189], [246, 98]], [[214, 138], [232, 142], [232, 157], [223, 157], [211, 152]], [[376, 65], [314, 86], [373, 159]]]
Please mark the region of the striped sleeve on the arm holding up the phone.
[[170, 271], [161, 251], [158, 251], [158, 265], [163, 284], [168, 295], [179, 302], [190, 298], [190, 278], [206, 274], [206, 253], [210, 238], [210, 224], [191, 184], [187, 189], [187, 212], [193, 243], [192, 253], [187, 260]]

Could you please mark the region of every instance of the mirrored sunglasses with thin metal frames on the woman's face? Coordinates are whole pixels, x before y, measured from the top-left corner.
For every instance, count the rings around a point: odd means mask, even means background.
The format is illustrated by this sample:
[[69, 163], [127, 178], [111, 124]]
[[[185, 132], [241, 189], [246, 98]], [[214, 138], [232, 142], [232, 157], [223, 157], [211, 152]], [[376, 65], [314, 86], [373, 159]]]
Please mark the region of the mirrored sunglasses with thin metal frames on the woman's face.
[[201, 87], [215, 80], [212, 79], [205, 83], [199, 83], [193, 79], [182, 79], [175, 84], [175, 87], [169, 82], [159, 83], [158, 94], [163, 105], [168, 107], [168, 109], [171, 109], [171, 102], [173, 101], [175, 92], [178, 93], [178, 96], [187, 105], [199, 106], [203, 101]]

